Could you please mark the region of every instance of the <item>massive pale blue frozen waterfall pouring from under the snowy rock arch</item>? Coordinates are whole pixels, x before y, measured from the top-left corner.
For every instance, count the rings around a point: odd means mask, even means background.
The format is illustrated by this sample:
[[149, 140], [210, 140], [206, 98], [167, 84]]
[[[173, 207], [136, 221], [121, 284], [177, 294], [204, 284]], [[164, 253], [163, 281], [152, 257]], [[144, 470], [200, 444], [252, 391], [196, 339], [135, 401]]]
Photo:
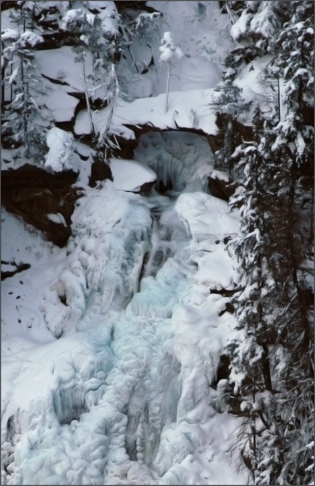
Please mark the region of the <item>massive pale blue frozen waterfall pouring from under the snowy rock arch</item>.
[[235, 323], [210, 289], [233, 287], [223, 240], [238, 219], [200, 191], [207, 143], [147, 134], [135, 157], [173, 191], [142, 197], [106, 181], [80, 199], [41, 304], [59, 339], [4, 364], [28, 399], [8, 385], [3, 484], [244, 484], [227, 451], [237, 419], [226, 383], [211, 387]]

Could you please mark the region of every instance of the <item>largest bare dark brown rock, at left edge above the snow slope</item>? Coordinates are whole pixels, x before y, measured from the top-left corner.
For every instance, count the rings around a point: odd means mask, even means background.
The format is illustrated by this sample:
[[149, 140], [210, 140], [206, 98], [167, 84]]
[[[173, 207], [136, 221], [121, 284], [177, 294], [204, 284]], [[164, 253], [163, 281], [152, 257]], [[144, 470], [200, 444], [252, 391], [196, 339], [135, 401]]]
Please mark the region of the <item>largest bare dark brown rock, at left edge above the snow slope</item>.
[[[77, 177], [73, 171], [50, 174], [29, 164], [17, 170], [1, 171], [1, 202], [8, 211], [63, 247], [71, 235], [74, 204], [81, 195], [80, 188], [71, 187]], [[63, 215], [67, 226], [56, 224], [46, 216], [57, 212]]]

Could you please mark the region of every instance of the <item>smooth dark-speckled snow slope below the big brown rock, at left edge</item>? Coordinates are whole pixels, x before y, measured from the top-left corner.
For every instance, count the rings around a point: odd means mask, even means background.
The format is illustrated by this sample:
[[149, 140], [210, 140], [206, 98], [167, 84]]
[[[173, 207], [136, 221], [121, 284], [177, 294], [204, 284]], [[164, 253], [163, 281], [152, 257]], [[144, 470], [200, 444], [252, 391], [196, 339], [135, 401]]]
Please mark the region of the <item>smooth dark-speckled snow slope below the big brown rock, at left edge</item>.
[[47, 283], [56, 277], [54, 262], [65, 250], [44, 241], [43, 235], [1, 208], [1, 259], [28, 263], [29, 270], [1, 282], [1, 353], [12, 356], [23, 349], [55, 340], [39, 311]]

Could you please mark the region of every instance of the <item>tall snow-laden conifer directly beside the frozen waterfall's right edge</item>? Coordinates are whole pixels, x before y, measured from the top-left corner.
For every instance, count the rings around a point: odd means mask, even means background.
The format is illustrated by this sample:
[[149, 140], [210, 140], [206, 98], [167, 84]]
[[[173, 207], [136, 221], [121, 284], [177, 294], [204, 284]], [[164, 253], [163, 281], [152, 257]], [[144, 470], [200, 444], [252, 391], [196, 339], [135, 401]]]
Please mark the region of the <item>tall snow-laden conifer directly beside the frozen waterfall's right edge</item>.
[[[255, 484], [305, 484], [292, 465], [297, 451], [305, 468], [311, 461], [314, 403], [306, 363], [312, 346], [296, 277], [300, 252], [290, 204], [292, 159], [284, 144], [273, 143], [275, 132], [259, 110], [254, 126], [255, 143], [235, 152], [240, 186], [231, 204], [241, 206], [242, 235], [230, 244], [241, 291], [235, 297], [237, 331], [228, 346], [230, 379], [249, 416], [242, 454]], [[304, 353], [305, 365], [297, 366]]]

